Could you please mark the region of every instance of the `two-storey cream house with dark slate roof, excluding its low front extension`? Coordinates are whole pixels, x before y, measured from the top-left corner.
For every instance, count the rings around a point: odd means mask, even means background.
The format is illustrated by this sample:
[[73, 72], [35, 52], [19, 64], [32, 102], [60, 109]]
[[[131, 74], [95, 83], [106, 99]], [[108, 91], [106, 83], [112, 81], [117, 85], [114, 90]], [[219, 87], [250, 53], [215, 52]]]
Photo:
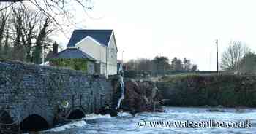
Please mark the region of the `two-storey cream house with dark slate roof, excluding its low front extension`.
[[94, 58], [100, 74], [116, 74], [118, 49], [113, 30], [75, 30], [67, 48], [78, 48]]

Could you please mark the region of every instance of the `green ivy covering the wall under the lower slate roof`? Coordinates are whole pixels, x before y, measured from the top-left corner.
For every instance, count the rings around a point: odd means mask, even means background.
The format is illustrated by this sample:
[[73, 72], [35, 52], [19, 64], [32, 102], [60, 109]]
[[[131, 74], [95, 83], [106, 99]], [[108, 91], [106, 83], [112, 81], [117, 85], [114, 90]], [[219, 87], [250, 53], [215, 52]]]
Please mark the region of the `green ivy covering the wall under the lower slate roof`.
[[87, 59], [83, 58], [54, 58], [50, 59], [50, 65], [72, 68], [74, 70], [87, 72]]

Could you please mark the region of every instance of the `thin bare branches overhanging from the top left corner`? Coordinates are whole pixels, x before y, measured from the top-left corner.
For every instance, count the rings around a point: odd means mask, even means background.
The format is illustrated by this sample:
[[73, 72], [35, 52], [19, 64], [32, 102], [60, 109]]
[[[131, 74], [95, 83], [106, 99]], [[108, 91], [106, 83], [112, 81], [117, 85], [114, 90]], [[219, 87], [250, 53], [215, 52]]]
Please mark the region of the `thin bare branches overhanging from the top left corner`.
[[[64, 31], [61, 21], [67, 20], [69, 25], [75, 25], [73, 16], [75, 13], [74, 9], [79, 7], [83, 9], [85, 15], [89, 17], [87, 12], [88, 9], [92, 9], [93, 2], [92, 0], [3, 0], [0, 1], [0, 4], [6, 4], [4, 7], [0, 8], [0, 11], [9, 9], [13, 5], [23, 5], [23, 7], [29, 7], [33, 5], [37, 7], [40, 12], [45, 16], [48, 16], [50, 20], [53, 20], [53, 23], [59, 28], [59, 30]], [[72, 8], [71, 8], [72, 7]], [[63, 20], [58, 20], [57, 17], [62, 18]], [[67, 23], [65, 25], [67, 25]]]

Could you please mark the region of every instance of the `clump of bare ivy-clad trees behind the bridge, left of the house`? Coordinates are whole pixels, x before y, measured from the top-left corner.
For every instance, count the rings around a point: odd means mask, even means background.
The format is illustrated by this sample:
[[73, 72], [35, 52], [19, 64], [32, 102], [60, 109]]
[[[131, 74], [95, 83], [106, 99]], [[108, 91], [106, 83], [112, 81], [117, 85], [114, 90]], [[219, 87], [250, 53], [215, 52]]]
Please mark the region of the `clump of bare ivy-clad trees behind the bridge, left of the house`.
[[23, 5], [12, 5], [9, 12], [7, 24], [3, 28], [0, 25], [0, 32], [3, 29], [0, 37], [4, 39], [1, 57], [40, 63], [42, 45], [48, 49], [48, 44], [52, 44], [50, 33], [55, 29], [52, 20], [38, 9], [28, 9]]

